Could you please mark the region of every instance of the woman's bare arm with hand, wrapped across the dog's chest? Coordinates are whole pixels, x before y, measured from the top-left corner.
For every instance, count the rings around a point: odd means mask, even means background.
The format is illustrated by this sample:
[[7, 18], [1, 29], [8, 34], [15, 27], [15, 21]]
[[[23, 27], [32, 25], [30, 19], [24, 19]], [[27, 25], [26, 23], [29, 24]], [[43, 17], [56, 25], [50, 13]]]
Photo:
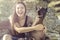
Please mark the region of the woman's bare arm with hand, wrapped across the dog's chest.
[[38, 24], [36, 26], [33, 27], [17, 27], [18, 25], [15, 24], [14, 25], [14, 29], [18, 32], [18, 33], [25, 33], [25, 32], [30, 32], [30, 31], [34, 31], [34, 30], [41, 30], [43, 29], [43, 25], [42, 24]]

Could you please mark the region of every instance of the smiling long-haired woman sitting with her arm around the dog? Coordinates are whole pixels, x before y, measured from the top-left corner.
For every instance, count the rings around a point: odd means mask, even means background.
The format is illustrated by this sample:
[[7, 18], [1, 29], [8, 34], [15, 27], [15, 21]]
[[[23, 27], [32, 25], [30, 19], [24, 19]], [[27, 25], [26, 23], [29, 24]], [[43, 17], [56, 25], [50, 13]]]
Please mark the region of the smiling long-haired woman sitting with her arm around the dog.
[[31, 26], [33, 23], [32, 18], [26, 15], [26, 6], [22, 2], [16, 4], [14, 14], [9, 20], [11, 32], [10, 34], [5, 34], [3, 40], [18, 40], [19, 38], [25, 40], [25, 37], [29, 38], [29, 32], [44, 29], [42, 24]]

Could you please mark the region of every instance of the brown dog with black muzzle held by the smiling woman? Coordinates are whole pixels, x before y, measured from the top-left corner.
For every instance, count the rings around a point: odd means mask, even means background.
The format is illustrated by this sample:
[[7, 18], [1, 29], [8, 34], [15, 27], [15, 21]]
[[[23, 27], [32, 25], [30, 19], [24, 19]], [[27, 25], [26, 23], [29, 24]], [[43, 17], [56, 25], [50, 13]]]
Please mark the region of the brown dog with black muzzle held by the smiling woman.
[[[38, 16], [36, 17], [36, 20], [34, 21], [33, 25], [36, 25], [36, 24], [42, 24], [43, 25], [43, 19], [46, 15], [46, 12], [47, 12], [47, 8], [46, 9], [45, 8], [39, 9], [38, 10]], [[44, 31], [45, 31], [45, 28], [44, 28], [43, 31], [33, 31], [33, 32], [31, 32], [32, 39], [33, 40], [46, 40]]]

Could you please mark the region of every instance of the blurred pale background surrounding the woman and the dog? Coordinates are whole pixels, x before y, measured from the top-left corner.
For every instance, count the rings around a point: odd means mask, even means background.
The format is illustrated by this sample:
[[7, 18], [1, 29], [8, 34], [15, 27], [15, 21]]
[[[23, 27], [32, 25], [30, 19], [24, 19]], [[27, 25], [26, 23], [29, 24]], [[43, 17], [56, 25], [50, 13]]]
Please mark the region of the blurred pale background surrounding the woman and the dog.
[[0, 39], [8, 32], [7, 19], [13, 14], [13, 7], [19, 1], [26, 4], [27, 15], [33, 18], [37, 15], [36, 6], [48, 8], [43, 21], [47, 27], [46, 34], [51, 40], [60, 40], [60, 0], [0, 0]]

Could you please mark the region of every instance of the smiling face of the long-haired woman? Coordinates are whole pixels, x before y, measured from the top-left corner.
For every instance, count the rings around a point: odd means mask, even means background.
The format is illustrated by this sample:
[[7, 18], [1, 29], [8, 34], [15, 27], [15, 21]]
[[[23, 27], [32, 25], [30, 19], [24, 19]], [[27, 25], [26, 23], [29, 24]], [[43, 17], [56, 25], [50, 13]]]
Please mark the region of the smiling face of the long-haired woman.
[[25, 15], [25, 6], [23, 4], [17, 4], [16, 5], [16, 14], [19, 16], [19, 17], [22, 17]]

